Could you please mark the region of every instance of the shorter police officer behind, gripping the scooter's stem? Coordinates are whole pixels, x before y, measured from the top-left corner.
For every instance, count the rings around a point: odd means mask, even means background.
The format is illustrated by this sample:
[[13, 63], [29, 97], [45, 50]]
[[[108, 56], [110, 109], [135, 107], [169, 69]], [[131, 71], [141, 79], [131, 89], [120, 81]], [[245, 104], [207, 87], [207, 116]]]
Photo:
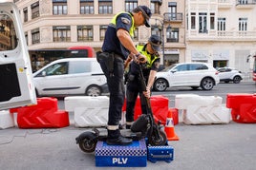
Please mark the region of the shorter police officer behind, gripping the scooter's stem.
[[139, 52], [146, 56], [147, 62], [143, 65], [142, 73], [145, 79], [146, 91], [142, 91], [139, 81], [139, 65], [132, 61], [129, 65], [129, 71], [127, 74], [127, 85], [126, 85], [126, 128], [130, 128], [134, 122], [134, 109], [135, 104], [139, 95], [141, 111], [142, 113], [147, 112], [146, 99], [150, 98], [150, 91], [154, 84], [157, 71], [160, 67], [160, 50], [161, 40], [158, 35], [151, 35], [148, 43], [145, 45], [138, 45], [137, 49]]

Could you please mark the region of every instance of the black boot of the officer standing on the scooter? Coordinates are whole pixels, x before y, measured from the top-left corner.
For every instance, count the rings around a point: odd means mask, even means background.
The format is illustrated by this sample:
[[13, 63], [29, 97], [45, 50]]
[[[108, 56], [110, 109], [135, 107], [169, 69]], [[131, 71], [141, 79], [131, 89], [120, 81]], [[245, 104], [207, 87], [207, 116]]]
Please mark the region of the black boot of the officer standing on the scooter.
[[121, 136], [119, 129], [108, 130], [108, 138], [106, 141], [109, 145], [128, 145], [133, 142], [132, 139]]

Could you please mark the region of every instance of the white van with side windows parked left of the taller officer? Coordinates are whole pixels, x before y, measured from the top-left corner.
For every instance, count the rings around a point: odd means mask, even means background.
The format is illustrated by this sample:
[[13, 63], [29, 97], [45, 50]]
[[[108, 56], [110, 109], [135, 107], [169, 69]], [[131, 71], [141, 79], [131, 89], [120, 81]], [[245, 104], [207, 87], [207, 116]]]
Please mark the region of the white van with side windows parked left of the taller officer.
[[106, 78], [96, 58], [53, 61], [33, 73], [37, 96], [87, 95], [108, 92]]

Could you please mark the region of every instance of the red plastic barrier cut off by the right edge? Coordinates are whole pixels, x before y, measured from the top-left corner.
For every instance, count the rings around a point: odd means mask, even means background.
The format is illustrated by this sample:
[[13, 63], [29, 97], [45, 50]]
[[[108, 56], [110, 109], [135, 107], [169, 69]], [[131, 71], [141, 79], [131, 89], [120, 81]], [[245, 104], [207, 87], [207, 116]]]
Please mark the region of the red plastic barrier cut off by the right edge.
[[226, 107], [231, 108], [236, 123], [256, 123], [256, 94], [227, 94]]

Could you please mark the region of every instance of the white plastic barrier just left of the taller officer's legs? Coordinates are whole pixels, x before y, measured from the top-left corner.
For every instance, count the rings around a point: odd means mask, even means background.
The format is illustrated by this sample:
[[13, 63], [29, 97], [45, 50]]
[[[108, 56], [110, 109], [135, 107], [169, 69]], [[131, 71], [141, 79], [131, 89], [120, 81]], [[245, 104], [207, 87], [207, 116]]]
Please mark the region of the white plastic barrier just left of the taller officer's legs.
[[71, 96], [64, 100], [65, 110], [75, 112], [75, 126], [105, 126], [108, 122], [107, 96]]

